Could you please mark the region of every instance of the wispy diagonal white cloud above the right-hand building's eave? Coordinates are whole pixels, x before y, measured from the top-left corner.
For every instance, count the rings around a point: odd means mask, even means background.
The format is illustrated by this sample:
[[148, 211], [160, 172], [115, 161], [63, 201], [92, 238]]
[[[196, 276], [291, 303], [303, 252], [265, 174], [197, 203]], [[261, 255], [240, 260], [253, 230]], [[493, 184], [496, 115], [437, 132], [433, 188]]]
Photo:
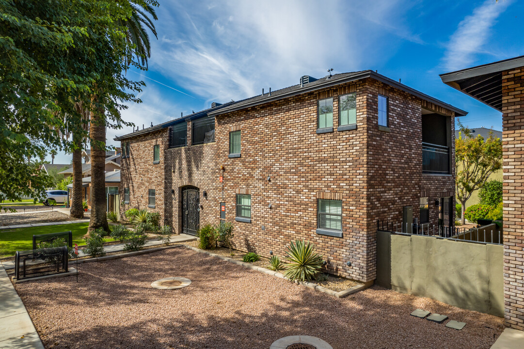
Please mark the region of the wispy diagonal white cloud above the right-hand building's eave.
[[459, 23], [444, 54], [443, 63], [446, 70], [453, 71], [471, 66], [475, 61], [475, 53], [482, 52], [498, 16], [510, 3], [510, 0], [486, 0], [473, 10], [473, 14], [466, 16]]

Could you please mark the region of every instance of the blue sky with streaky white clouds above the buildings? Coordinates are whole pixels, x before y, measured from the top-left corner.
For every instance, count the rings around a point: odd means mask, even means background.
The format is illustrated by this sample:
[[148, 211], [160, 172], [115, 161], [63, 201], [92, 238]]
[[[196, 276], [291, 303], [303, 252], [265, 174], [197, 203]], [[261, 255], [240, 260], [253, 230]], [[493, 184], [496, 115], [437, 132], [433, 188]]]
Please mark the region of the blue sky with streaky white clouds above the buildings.
[[[143, 103], [122, 112], [140, 128], [333, 68], [378, 70], [469, 112], [465, 125], [501, 130], [500, 113], [439, 74], [524, 54], [524, 3], [517, 0], [159, 2], [149, 70], [128, 72], [147, 84]], [[108, 144], [131, 131], [108, 129]]]

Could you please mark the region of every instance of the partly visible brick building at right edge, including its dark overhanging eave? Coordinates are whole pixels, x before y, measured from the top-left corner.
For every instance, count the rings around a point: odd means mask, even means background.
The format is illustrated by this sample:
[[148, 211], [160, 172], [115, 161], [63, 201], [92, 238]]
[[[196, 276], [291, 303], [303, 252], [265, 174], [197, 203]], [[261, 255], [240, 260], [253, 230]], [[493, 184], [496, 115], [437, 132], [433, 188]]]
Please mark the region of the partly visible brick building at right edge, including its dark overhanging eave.
[[503, 113], [505, 320], [511, 328], [524, 330], [524, 56], [441, 78]]

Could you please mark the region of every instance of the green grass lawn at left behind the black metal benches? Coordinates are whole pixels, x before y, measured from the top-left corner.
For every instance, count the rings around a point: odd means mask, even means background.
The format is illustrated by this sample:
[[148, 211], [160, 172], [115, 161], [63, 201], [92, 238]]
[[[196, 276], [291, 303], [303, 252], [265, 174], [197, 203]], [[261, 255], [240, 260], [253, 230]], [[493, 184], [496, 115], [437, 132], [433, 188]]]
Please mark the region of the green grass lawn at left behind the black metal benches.
[[[37, 234], [71, 231], [73, 233], [73, 244], [84, 245], [82, 236], [88, 232], [88, 226], [89, 222], [84, 222], [0, 230], [0, 258], [14, 256], [16, 251], [31, 249], [32, 236]], [[110, 225], [110, 228], [112, 227]], [[107, 237], [104, 241], [113, 241], [113, 239]]]

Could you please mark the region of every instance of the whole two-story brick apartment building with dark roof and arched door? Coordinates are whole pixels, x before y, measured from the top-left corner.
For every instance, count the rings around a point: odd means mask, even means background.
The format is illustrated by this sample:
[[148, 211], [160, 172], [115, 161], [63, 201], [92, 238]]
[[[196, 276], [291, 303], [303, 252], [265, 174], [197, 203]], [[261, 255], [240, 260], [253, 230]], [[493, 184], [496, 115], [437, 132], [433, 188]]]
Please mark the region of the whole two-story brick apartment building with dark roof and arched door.
[[376, 276], [377, 221], [453, 225], [454, 117], [466, 113], [373, 71], [336, 74], [117, 137], [123, 210], [176, 232], [221, 220], [236, 247], [285, 256], [312, 241], [336, 275]]

